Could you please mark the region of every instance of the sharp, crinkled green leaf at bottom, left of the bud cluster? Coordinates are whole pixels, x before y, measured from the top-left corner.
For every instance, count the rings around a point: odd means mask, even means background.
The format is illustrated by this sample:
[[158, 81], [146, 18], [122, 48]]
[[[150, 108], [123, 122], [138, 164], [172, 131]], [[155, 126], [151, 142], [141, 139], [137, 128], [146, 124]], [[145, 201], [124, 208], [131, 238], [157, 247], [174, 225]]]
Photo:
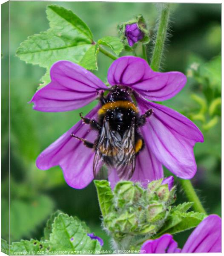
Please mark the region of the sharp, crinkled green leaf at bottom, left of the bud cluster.
[[[83, 224], [78, 218], [69, 217], [67, 214], [59, 214], [52, 224], [50, 235], [51, 250], [66, 250], [69, 254], [96, 253], [101, 249], [98, 240], [87, 236]], [[76, 253], [75, 253], [76, 252]]]

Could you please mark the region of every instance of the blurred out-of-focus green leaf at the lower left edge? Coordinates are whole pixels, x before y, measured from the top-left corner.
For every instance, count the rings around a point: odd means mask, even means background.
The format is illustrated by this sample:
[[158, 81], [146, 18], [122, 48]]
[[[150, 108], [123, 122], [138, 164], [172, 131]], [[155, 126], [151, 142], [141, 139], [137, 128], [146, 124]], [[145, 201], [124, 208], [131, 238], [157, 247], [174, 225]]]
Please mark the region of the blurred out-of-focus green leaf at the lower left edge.
[[28, 237], [52, 213], [54, 203], [40, 195], [29, 200], [11, 201], [11, 240]]

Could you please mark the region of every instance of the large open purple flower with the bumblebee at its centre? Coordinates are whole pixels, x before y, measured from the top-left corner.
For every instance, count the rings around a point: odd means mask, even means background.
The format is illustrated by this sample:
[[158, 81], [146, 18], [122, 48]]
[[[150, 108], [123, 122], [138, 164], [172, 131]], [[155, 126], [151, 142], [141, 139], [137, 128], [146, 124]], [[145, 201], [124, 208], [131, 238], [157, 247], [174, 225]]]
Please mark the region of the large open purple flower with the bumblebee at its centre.
[[[69, 61], [56, 62], [50, 71], [52, 81], [38, 90], [31, 102], [37, 111], [60, 112], [78, 109], [92, 102], [108, 87], [98, 77], [78, 64]], [[109, 67], [108, 82], [111, 86], [123, 85], [132, 89], [139, 111], [144, 114], [152, 109], [151, 115], [140, 128], [145, 147], [136, 157], [132, 181], [143, 185], [163, 177], [162, 165], [183, 179], [195, 175], [197, 166], [193, 147], [203, 142], [203, 135], [187, 117], [163, 105], [149, 102], [164, 101], [175, 96], [186, 84], [186, 76], [180, 72], [154, 72], [144, 59], [125, 56], [118, 58]], [[98, 116], [98, 104], [86, 117]], [[42, 170], [59, 165], [69, 186], [82, 189], [94, 178], [94, 151], [86, 148], [80, 140], [94, 142], [96, 131], [80, 120], [59, 139], [46, 148], [37, 158], [37, 167]], [[114, 186], [119, 180], [113, 170], [109, 181]]]

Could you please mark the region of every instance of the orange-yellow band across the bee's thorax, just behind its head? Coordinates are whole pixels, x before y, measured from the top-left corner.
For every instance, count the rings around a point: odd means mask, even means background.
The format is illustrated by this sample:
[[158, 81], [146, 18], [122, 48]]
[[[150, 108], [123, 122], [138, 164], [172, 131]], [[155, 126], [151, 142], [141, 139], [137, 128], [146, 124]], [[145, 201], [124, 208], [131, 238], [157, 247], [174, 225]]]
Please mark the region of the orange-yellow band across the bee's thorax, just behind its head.
[[107, 102], [98, 110], [98, 115], [103, 115], [108, 110], [113, 110], [115, 108], [126, 108], [131, 109], [134, 112], [138, 112], [138, 108], [134, 103], [129, 102], [128, 100], [118, 100], [116, 102]]

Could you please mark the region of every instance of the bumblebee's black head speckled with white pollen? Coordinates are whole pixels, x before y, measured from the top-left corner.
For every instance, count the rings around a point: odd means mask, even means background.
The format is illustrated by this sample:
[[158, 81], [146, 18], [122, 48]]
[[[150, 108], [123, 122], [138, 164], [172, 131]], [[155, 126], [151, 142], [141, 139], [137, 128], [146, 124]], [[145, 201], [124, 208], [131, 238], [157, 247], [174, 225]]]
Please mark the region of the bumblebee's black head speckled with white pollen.
[[115, 102], [118, 100], [128, 100], [132, 102], [132, 90], [126, 86], [114, 86], [106, 96], [106, 102]]

